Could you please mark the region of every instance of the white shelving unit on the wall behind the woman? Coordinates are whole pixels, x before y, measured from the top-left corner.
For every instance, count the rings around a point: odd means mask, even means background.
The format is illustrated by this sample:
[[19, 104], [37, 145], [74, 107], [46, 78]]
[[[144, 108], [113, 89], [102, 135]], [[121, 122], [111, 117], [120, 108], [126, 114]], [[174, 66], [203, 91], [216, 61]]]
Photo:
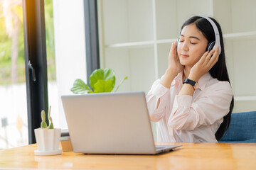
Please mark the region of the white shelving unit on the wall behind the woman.
[[234, 112], [256, 110], [256, 1], [99, 0], [100, 67], [116, 72], [119, 91], [145, 91], [168, 66], [171, 43], [191, 16], [222, 27]]

